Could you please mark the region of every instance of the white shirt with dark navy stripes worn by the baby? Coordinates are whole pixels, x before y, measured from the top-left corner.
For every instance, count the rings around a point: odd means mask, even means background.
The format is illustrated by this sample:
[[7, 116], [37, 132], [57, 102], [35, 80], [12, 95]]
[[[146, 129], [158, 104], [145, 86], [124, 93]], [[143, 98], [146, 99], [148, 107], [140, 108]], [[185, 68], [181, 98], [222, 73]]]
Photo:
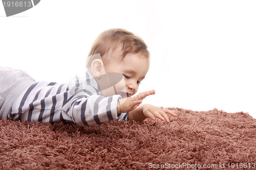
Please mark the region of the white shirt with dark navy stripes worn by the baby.
[[120, 95], [104, 97], [90, 74], [68, 84], [41, 81], [28, 87], [13, 103], [9, 117], [29, 122], [73, 122], [79, 126], [99, 125], [109, 120], [126, 120], [117, 114]]

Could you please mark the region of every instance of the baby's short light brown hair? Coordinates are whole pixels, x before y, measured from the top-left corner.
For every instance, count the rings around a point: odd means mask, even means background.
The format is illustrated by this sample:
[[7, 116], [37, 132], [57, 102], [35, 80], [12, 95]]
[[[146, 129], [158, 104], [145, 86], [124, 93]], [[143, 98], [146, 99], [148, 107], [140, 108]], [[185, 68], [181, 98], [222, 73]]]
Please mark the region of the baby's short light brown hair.
[[93, 42], [86, 62], [87, 68], [91, 66], [93, 60], [100, 57], [104, 58], [109, 52], [113, 53], [117, 50], [118, 47], [121, 47], [122, 50], [120, 55], [122, 60], [128, 53], [139, 53], [142, 57], [150, 57], [147, 45], [139, 36], [124, 29], [109, 29], [100, 33]]

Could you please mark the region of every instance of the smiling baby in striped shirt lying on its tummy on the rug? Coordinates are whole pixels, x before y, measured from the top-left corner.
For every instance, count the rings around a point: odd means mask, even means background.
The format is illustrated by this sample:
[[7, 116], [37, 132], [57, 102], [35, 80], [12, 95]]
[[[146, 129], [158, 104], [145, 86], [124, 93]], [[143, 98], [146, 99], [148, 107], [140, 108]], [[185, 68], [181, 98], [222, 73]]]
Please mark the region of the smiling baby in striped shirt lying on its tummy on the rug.
[[141, 104], [155, 90], [133, 96], [150, 66], [144, 41], [123, 29], [102, 32], [94, 41], [85, 78], [68, 84], [35, 82], [26, 72], [0, 67], [0, 118], [29, 122], [73, 122], [79, 126], [109, 120], [169, 122], [168, 109]]

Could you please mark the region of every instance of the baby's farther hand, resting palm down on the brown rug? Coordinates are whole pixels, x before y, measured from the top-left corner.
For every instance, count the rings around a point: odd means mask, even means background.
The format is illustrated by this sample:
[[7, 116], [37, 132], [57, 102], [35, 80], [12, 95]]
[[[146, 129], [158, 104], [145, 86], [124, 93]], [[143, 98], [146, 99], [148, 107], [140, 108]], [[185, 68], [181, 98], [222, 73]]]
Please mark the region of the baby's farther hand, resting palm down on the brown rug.
[[150, 104], [143, 105], [143, 114], [146, 117], [151, 118], [152, 120], [155, 120], [157, 117], [169, 123], [170, 121], [166, 113], [171, 114], [173, 116], [177, 116], [174, 111], [169, 109], [160, 109], [159, 107]]

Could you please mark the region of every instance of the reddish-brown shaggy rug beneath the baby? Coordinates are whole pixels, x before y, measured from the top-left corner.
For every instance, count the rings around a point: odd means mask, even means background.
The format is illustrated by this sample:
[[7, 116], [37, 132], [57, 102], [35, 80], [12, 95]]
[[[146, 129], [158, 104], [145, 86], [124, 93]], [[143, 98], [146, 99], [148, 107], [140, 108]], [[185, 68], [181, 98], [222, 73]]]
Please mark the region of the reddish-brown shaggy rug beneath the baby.
[[170, 123], [0, 120], [0, 169], [256, 169], [256, 119], [170, 109]]

